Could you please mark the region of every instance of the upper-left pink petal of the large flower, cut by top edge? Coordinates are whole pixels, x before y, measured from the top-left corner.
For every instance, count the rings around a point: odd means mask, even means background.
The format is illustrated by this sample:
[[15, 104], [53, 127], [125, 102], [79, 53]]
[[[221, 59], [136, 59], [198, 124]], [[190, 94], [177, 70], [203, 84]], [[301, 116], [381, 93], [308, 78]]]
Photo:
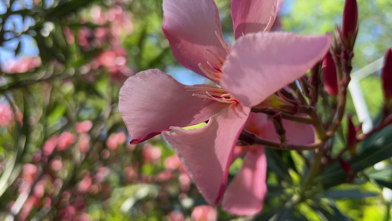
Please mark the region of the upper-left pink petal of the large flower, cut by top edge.
[[227, 52], [215, 35], [218, 32], [222, 37], [214, 0], [164, 0], [163, 18], [163, 33], [174, 57], [185, 68], [205, 77], [199, 63], [205, 68], [210, 68], [207, 61], [215, 63], [205, 55], [205, 48], [225, 59]]

